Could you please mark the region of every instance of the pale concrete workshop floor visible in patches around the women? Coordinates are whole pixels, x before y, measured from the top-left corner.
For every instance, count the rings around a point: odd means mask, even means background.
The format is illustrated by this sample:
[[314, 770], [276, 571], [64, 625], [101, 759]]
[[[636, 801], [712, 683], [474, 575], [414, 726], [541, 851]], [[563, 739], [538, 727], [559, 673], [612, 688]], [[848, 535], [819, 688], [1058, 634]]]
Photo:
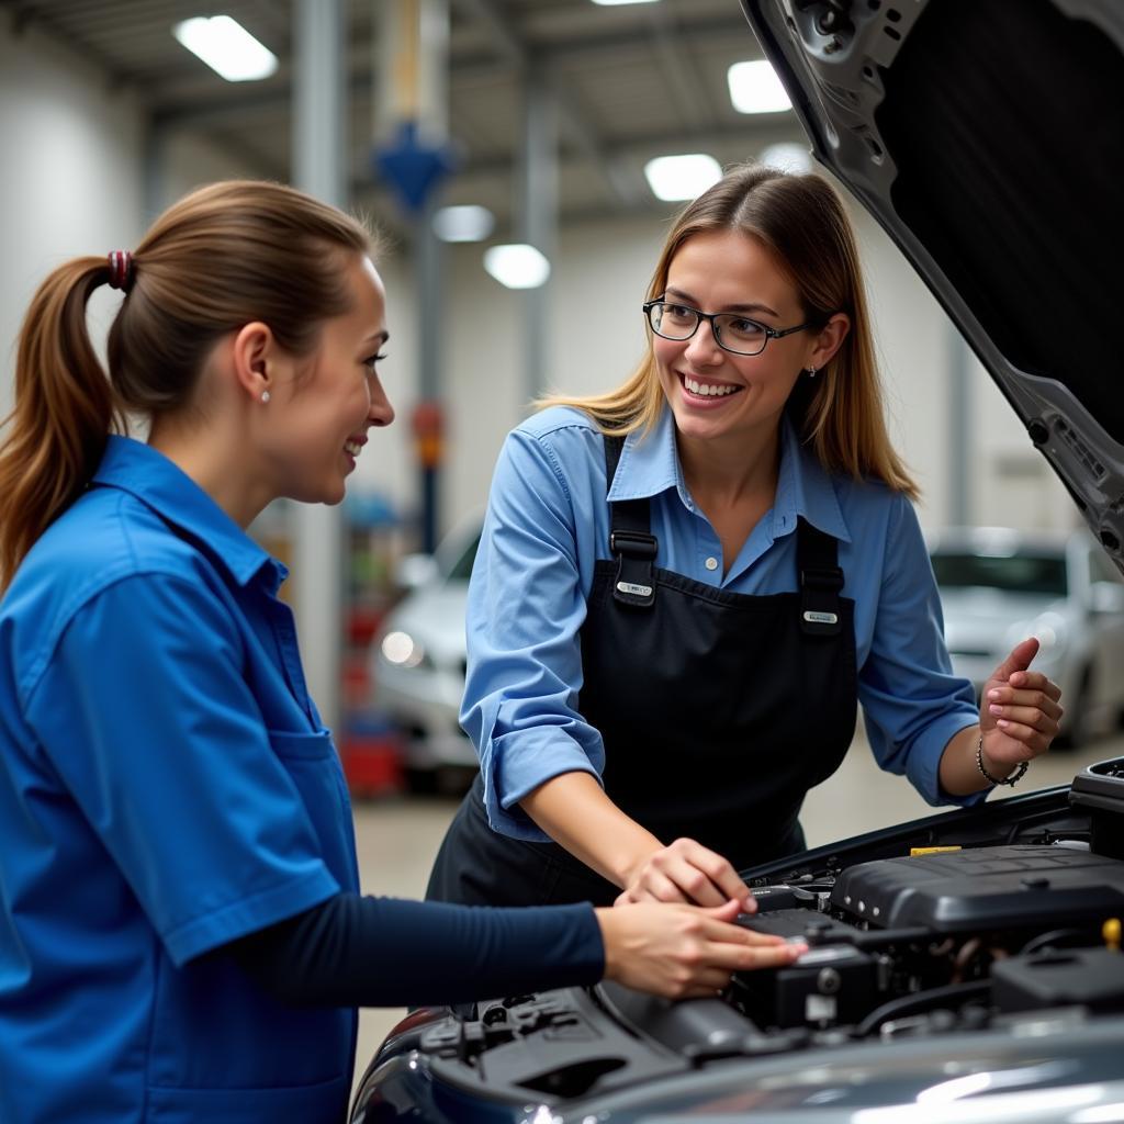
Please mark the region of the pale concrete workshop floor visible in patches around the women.
[[[1124, 735], [1102, 737], [1072, 752], [1054, 751], [1035, 761], [1014, 791], [1022, 794], [1068, 783], [1086, 764], [1121, 755], [1124, 755]], [[1005, 789], [1004, 795], [1010, 795], [1010, 790]], [[992, 797], [997, 798], [1001, 797]], [[420, 897], [456, 804], [453, 799], [437, 798], [356, 800], [355, 832], [363, 892]], [[839, 772], [808, 794], [801, 822], [808, 845], [818, 846], [927, 816], [933, 810], [904, 778], [878, 769], [860, 735]], [[404, 1015], [404, 1009], [362, 1012], [356, 1079], [387, 1032]]]

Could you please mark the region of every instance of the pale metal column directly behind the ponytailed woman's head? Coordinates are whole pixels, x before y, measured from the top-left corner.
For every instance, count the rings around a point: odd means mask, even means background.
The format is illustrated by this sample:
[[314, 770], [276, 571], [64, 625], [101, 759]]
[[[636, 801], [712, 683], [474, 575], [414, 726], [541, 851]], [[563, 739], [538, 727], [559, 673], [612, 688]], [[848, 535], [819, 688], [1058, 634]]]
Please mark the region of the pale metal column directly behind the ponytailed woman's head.
[[[293, 0], [292, 182], [345, 206], [343, 0]], [[326, 725], [341, 718], [344, 528], [338, 507], [297, 504], [293, 511], [297, 627], [308, 689]]]

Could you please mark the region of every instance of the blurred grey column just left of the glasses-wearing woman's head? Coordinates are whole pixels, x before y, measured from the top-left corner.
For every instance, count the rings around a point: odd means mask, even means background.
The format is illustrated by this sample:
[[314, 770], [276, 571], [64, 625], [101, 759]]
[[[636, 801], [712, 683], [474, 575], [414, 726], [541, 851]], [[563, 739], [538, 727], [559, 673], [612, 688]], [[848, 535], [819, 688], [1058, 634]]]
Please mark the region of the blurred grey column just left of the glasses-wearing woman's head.
[[[541, 67], [524, 72], [523, 166], [519, 178], [519, 220], [524, 242], [551, 263], [558, 253], [559, 115]], [[528, 404], [546, 392], [550, 352], [551, 281], [524, 292], [526, 390]]]

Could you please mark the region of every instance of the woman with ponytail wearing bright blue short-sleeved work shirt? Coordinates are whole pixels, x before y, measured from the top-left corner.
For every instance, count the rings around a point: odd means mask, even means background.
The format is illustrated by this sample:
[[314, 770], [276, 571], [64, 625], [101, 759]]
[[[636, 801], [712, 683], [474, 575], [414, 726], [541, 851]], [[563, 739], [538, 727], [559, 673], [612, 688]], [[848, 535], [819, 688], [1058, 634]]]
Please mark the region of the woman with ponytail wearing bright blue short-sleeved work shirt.
[[338, 1122], [359, 1005], [713, 995], [801, 951], [733, 900], [359, 892], [285, 570], [246, 527], [343, 499], [393, 420], [387, 338], [366, 230], [271, 183], [201, 189], [31, 302], [0, 446], [0, 1121]]

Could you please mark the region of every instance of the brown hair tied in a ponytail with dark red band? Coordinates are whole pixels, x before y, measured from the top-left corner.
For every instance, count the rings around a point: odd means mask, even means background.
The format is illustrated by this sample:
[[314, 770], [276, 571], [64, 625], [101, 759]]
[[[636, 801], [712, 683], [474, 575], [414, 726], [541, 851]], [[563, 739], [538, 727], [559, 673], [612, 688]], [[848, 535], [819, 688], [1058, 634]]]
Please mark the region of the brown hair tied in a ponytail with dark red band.
[[19, 335], [16, 407], [0, 447], [0, 590], [89, 483], [126, 415], [183, 408], [227, 332], [262, 320], [297, 355], [350, 308], [339, 253], [370, 253], [355, 219], [279, 183], [201, 188], [166, 210], [133, 254], [108, 339], [108, 378], [87, 330], [107, 257], [78, 257], [39, 287]]

